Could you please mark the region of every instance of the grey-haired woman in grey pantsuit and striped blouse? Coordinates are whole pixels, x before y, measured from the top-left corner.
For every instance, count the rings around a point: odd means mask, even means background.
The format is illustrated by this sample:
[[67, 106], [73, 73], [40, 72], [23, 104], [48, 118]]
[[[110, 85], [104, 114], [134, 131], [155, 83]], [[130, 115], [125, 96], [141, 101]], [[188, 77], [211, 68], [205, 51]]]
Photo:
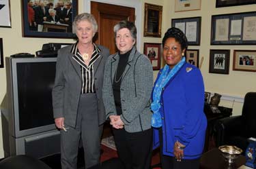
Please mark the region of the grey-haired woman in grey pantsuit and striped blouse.
[[62, 169], [76, 169], [79, 140], [83, 140], [85, 168], [100, 163], [100, 137], [105, 121], [102, 83], [109, 50], [92, 42], [98, 24], [91, 14], [74, 18], [78, 41], [57, 56], [53, 113], [61, 130]]

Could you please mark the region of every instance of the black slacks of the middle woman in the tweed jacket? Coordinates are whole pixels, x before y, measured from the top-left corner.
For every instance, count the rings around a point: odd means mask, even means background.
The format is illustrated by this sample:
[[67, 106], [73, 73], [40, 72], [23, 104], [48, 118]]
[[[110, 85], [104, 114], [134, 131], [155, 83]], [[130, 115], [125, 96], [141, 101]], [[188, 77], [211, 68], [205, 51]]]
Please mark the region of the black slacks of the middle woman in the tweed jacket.
[[149, 169], [152, 157], [152, 129], [126, 132], [114, 129], [113, 135], [119, 159], [126, 169]]

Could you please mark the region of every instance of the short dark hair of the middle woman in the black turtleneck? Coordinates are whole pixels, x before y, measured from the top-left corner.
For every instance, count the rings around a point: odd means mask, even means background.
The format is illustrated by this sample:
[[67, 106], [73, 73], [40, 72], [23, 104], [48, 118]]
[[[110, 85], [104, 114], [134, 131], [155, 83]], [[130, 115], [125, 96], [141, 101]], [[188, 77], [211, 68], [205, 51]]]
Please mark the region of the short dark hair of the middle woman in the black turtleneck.
[[120, 29], [124, 29], [124, 28], [129, 29], [130, 34], [132, 35], [133, 39], [136, 41], [136, 39], [137, 39], [136, 26], [134, 25], [133, 22], [129, 22], [127, 20], [122, 20], [114, 26], [115, 37], [117, 35], [117, 31], [119, 31]]

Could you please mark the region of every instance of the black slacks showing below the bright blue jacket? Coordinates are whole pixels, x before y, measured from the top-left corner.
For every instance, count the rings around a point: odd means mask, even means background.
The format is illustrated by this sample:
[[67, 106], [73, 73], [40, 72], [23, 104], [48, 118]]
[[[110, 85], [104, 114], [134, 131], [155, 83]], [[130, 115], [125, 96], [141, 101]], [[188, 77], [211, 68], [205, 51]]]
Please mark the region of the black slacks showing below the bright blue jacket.
[[160, 161], [162, 169], [199, 169], [200, 159], [182, 159], [177, 162], [175, 157], [162, 154], [162, 128], [159, 129]]

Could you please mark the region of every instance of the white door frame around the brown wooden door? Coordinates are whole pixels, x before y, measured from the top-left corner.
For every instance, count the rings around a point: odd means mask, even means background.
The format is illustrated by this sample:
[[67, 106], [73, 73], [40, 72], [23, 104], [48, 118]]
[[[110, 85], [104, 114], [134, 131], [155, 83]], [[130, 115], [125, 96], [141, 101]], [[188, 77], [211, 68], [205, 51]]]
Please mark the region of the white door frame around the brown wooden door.
[[141, 51], [141, 25], [142, 23], [142, 8], [141, 8], [141, 1], [138, 0], [85, 0], [84, 3], [84, 11], [91, 14], [91, 1], [100, 2], [100, 3], [109, 3], [112, 5], [121, 5], [126, 7], [134, 7], [135, 8], [135, 25], [137, 27], [137, 50]]

